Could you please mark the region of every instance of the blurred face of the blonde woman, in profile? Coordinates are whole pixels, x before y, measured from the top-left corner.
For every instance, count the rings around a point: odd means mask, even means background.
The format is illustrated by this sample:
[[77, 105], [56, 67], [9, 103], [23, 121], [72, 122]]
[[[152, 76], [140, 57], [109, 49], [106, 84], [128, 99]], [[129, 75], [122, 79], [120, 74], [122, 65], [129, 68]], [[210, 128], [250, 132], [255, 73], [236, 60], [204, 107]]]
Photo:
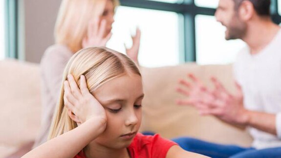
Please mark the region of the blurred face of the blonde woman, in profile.
[[101, 20], [106, 20], [106, 32], [105, 35], [108, 35], [112, 29], [112, 23], [114, 23], [114, 6], [112, 0], [106, 0], [105, 10], [102, 14]]

